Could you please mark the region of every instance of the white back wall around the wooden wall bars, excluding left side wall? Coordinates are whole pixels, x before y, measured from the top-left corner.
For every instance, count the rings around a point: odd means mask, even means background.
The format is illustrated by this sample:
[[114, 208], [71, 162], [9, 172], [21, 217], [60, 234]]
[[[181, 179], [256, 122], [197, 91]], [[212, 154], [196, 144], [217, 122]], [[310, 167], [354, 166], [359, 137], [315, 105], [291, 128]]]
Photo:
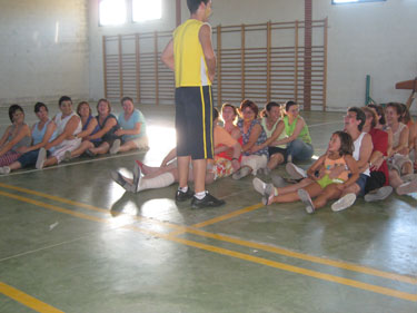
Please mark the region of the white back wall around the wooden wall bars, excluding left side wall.
[[[96, 1], [92, 1], [96, 2]], [[304, 0], [214, 0], [212, 26], [304, 19]], [[161, 21], [122, 28], [97, 27], [97, 9], [90, 12], [91, 97], [103, 92], [101, 36], [136, 31], [170, 30], [175, 27], [175, 1], [165, 0]], [[417, 76], [417, 1], [331, 4], [312, 1], [314, 19], [328, 17], [328, 85], [330, 110], [365, 102], [366, 75], [371, 76], [371, 97], [378, 101], [406, 101], [408, 90], [396, 90], [395, 82]], [[182, 20], [189, 17], [182, 0]], [[96, 19], [96, 20], [95, 20]], [[416, 111], [417, 105], [413, 106]]]

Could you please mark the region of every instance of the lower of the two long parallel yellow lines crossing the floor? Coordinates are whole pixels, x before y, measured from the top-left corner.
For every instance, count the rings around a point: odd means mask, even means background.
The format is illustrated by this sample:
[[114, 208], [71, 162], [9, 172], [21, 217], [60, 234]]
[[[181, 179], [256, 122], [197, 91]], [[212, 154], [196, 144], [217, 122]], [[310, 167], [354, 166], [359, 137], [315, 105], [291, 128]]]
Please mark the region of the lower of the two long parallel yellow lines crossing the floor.
[[[3, 192], [0, 192], [0, 195], [11, 197], [11, 198], [16, 198], [16, 199], [19, 199], [19, 200], [24, 200], [27, 203], [36, 204], [37, 206], [43, 206], [44, 208], [58, 211], [58, 212], [61, 212], [61, 213], [64, 213], [64, 214], [69, 214], [68, 209], [60, 208], [60, 207], [57, 207], [57, 206], [51, 206], [51, 205], [42, 203], [42, 202], [33, 202], [32, 199], [29, 199], [29, 198], [24, 199], [24, 197], [16, 196], [16, 195], [12, 195], [12, 194], [9, 194], [9, 193], [3, 193]], [[59, 209], [57, 209], [57, 208], [59, 208]], [[86, 218], [86, 216], [83, 214], [77, 215], [77, 217]], [[99, 223], [106, 223], [107, 222], [106, 219], [102, 219], [102, 218], [88, 218], [88, 219], [99, 222]], [[375, 292], [375, 293], [379, 293], [379, 294], [384, 294], [384, 295], [388, 295], [388, 296], [393, 296], [393, 297], [398, 297], [398, 299], [403, 299], [403, 300], [417, 302], [417, 295], [416, 294], [410, 294], [410, 293], [405, 293], [405, 292], [400, 292], [400, 291], [397, 291], [397, 290], [391, 290], [391, 288], [387, 288], [387, 287], [371, 285], [371, 284], [363, 283], [363, 282], [355, 281], [355, 280], [334, 276], [334, 275], [330, 275], [330, 274], [325, 274], [325, 273], [316, 272], [316, 271], [312, 271], [312, 270], [307, 270], [307, 268], [302, 268], [302, 267], [276, 262], [276, 261], [270, 261], [270, 260], [244, 254], [244, 253], [240, 253], [240, 252], [226, 250], [226, 248], [222, 248], [222, 247], [217, 247], [217, 246], [207, 245], [207, 244], [202, 244], [202, 243], [198, 243], [198, 242], [192, 242], [192, 241], [188, 241], [188, 239], [183, 239], [183, 238], [180, 238], [180, 237], [172, 236], [170, 234], [166, 235], [166, 234], [161, 234], [161, 233], [157, 233], [157, 232], [152, 232], [152, 231], [148, 231], [148, 229], [142, 229], [142, 228], [139, 228], [135, 225], [125, 225], [122, 227], [127, 228], [127, 229], [135, 229], [135, 231], [138, 231], [138, 232], [141, 232], [141, 233], [150, 234], [152, 236], [157, 236], [157, 237], [165, 238], [165, 239], [168, 239], [168, 241], [172, 241], [172, 242], [177, 242], [177, 243], [185, 244], [185, 245], [188, 245], [188, 246], [197, 247], [197, 248], [200, 248], [200, 250], [205, 250], [205, 251], [209, 251], [209, 252], [214, 252], [214, 253], [218, 253], [218, 254], [222, 254], [222, 255], [228, 255], [228, 256], [231, 256], [231, 257], [245, 260], [245, 261], [257, 263], [257, 264], [267, 265], [267, 266], [279, 268], [279, 270], [282, 270], [282, 271], [292, 272], [292, 273], [297, 273], [297, 274], [301, 274], [301, 275], [306, 275], [306, 276], [310, 276], [310, 277], [315, 277], [315, 278], [319, 278], [319, 280], [324, 280], [324, 281], [335, 282], [335, 283], [339, 283], [339, 284], [342, 284], [342, 285], [348, 285], [348, 286], [353, 286], [353, 287], [356, 287], [356, 288], [366, 290], [366, 291], [370, 291], [370, 292]]]

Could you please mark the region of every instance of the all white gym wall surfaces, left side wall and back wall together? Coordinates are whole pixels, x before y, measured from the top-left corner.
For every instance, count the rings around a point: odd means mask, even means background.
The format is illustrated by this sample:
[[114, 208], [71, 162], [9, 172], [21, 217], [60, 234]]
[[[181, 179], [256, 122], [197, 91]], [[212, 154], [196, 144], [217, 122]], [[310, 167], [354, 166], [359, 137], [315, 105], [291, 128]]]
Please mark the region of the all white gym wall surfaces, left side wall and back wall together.
[[[302, 20], [304, 2], [214, 0], [211, 25]], [[394, 85], [417, 76], [417, 1], [312, 2], [314, 19], [329, 19], [329, 108], [363, 105], [367, 74], [376, 101], [406, 101], [409, 91], [396, 90]], [[162, 7], [158, 21], [99, 27], [98, 0], [0, 0], [0, 102], [56, 99], [62, 94], [102, 97], [102, 36], [172, 30], [175, 0], [162, 0]], [[187, 19], [186, 0], [181, 11], [182, 20]]]

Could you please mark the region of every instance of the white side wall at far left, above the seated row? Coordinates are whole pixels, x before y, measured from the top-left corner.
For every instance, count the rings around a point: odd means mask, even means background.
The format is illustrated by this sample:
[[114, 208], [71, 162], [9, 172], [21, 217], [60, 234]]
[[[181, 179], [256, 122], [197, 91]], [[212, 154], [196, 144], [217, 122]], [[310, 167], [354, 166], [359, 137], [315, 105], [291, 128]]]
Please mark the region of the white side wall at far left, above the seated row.
[[85, 0], [0, 0], [0, 105], [89, 97]]

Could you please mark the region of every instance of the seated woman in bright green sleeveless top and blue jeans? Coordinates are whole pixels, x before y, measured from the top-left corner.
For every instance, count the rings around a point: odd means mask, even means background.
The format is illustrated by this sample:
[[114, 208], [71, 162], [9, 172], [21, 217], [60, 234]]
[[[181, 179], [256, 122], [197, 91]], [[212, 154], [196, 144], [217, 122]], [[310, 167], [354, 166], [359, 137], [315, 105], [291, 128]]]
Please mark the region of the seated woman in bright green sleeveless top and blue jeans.
[[287, 158], [292, 160], [308, 160], [311, 158], [314, 148], [311, 137], [304, 118], [299, 115], [297, 102], [286, 102], [286, 116], [284, 117], [287, 138], [277, 140], [277, 145], [287, 144]]

